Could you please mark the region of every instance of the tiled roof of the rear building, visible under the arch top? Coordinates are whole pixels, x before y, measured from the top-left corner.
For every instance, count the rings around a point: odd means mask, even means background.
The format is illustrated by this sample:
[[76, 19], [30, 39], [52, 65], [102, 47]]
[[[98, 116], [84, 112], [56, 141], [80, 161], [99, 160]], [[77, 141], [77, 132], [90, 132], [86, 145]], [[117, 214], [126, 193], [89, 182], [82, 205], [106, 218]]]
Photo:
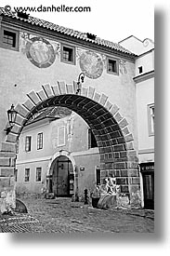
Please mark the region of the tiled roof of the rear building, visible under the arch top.
[[38, 112], [37, 114], [33, 115], [33, 118], [31, 118], [27, 125], [32, 124], [34, 122], [43, 120], [45, 118], [49, 118], [51, 120], [63, 118], [67, 115], [71, 115], [72, 111], [65, 107], [48, 107], [46, 109], [43, 109], [43, 111]]

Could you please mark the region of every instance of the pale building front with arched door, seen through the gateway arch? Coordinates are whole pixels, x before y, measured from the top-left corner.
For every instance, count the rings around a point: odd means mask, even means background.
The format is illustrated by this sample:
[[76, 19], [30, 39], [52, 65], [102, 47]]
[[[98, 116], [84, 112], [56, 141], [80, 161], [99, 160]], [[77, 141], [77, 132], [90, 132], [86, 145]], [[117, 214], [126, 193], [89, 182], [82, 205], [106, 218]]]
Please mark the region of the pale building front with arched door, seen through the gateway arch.
[[78, 187], [81, 197], [85, 188], [93, 191], [98, 170], [100, 182], [99, 165], [98, 144], [84, 119], [50, 107], [35, 115], [20, 134], [16, 192], [36, 195], [45, 189], [54, 196], [72, 196]]

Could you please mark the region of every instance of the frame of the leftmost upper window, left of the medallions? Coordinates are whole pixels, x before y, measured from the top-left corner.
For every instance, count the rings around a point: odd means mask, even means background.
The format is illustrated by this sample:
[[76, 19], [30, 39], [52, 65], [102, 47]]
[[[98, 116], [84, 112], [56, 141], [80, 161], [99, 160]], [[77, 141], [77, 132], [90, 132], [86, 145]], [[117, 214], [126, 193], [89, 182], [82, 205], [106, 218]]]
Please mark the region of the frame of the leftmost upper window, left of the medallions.
[[[12, 36], [12, 34], [14, 34], [14, 37], [15, 37], [14, 38], [14, 41], [15, 41], [15, 46], [14, 47], [11, 44], [7, 44], [7, 43], [4, 42], [5, 32], [8, 33], [8, 36]], [[9, 34], [11, 34], [11, 35], [9, 35]], [[10, 39], [9, 39], [9, 41], [10, 41]], [[20, 42], [20, 32], [15, 30], [15, 29], [12, 29], [10, 27], [7, 27], [5, 25], [2, 25], [1, 31], [0, 31], [0, 47], [10, 49], [10, 50], [14, 50], [14, 51], [19, 51], [19, 42]]]

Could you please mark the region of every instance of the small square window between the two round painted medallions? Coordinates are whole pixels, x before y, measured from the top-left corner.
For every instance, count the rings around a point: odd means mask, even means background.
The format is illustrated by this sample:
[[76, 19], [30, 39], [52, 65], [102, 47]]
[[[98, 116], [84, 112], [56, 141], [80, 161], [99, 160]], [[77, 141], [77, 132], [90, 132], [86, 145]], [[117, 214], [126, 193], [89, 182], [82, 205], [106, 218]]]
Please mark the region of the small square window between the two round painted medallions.
[[65, 63], [75, 64], [75, 49], [74, 47], [61, 47], [61, 61]]

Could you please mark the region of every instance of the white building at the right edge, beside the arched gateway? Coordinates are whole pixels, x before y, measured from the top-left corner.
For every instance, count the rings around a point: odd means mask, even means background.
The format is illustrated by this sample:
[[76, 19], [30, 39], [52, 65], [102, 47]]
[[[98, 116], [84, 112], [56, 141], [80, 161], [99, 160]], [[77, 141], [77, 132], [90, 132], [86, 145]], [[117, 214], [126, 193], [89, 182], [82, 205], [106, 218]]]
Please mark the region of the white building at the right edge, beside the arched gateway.
[[136, 83], [138, 163], [142, 207], [154, 209], [154, 43], [129, 36], [121, 43], [137, 54]]

